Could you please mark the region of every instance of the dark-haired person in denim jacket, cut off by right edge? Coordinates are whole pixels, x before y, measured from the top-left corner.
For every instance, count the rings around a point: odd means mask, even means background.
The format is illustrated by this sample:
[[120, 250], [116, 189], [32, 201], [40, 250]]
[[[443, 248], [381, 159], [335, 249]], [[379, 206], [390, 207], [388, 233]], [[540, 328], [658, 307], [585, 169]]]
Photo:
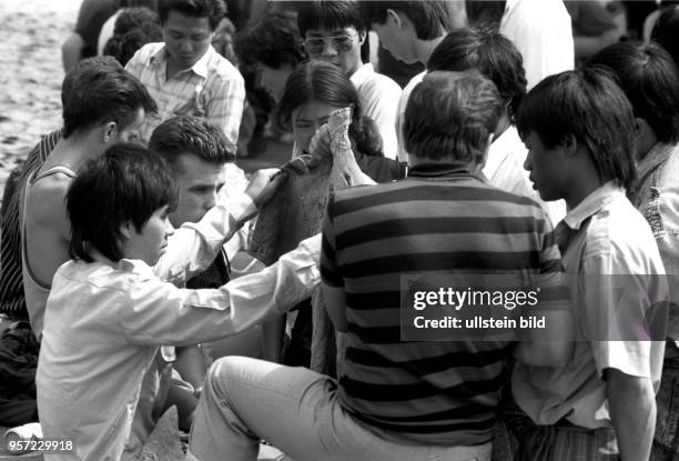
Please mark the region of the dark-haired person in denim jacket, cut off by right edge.
[[[627, 193], [648, 221], [669, 284], [676, 290], [679, 288], [679, 70], [656, 43], [617, 43], [599, 51], [587, 66], [611, 70], [632, 104], [638, 179]], [[676, 309], [670, 309], [662, 381], [657, 395], [653, 461], [671, 460], [679, 454], [679, 414], [672, 411], [677, 404], [673, 390], [679, 370], [677, 314]]]

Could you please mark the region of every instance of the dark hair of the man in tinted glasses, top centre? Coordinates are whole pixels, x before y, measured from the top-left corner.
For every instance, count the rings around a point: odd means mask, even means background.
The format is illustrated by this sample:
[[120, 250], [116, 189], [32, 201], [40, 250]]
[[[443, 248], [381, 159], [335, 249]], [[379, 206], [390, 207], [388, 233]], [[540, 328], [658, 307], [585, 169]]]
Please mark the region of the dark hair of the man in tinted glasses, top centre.
[[364, 32], [367, 27], [356, 0], [311, 0], [297, 9], [297, 26], [304, 37], [308, 30], [337, 30], [354, 27]]

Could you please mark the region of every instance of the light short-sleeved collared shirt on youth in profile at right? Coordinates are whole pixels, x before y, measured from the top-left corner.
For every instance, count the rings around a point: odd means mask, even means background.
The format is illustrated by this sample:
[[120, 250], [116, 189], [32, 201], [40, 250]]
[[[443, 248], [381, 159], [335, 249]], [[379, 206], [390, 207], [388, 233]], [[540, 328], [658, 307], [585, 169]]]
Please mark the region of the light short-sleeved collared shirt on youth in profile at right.
[[[511, 388], [519, 407], [538, 424], [566, 417], [576, 425], [610, 424], [602, 372], [615, 368], [650, 378], [658, 390], [663, 341], [605, 341], [616, 328], [645, 332], [650, 307], [665, 300], [665, 269], [643, 217], [614, 181], [601, 186], [570, 210], [556, 229], [581, 341], [569, 364], [560, 369], [517, 363]], [[625, 274], [646, 297], [620, 295], [616, 278]], [[605, 284], [609, 284], [605, 288]], [[625, 291], [622, 291], [625, 293]], [[641, 299], [641, 301], [640, 301]], [[626, 335], [625, 338], [629, 338]]]

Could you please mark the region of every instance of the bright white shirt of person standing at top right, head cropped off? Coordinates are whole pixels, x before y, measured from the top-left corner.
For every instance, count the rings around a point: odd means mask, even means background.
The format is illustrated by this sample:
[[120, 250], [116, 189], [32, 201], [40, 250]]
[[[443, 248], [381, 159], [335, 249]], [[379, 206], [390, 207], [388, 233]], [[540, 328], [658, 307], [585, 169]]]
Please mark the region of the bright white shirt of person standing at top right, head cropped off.
[[575, 66], [570, 16], [561, 0], [507, 0], [499, 31], [520, 51], [528, 89]]

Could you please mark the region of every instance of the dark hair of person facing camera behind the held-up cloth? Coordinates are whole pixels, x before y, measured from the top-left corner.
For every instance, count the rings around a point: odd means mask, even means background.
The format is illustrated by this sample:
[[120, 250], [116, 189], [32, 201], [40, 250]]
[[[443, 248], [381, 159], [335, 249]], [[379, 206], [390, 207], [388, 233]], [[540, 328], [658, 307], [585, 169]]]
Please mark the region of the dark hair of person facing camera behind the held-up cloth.
[[383, 156], [382, 137], [375, 122], [363, 117], [356, 88], [340, 68], [328, 62], [310, 61], [290, 74], [278, 104], [278, 126], [288, 130], [292, 112], [313, 100], [335, 107], [354, 104], [349, 138], [356, 150], [368, 156]]

